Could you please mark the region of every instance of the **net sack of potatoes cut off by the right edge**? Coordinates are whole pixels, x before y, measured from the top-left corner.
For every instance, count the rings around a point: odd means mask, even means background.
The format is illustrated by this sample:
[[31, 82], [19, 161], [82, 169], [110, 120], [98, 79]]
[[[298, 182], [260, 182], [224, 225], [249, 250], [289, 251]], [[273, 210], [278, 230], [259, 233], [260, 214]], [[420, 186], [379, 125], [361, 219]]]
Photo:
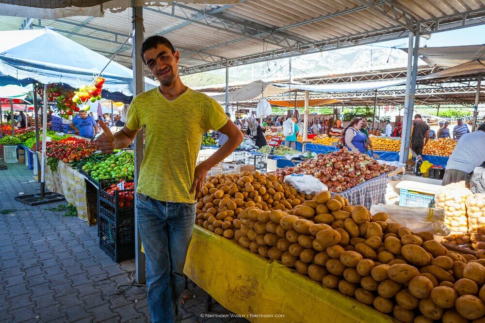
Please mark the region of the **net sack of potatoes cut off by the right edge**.
[[472, 246], [475, 249], [485, 249], [485, 194], [470, 195], [465, 204]]

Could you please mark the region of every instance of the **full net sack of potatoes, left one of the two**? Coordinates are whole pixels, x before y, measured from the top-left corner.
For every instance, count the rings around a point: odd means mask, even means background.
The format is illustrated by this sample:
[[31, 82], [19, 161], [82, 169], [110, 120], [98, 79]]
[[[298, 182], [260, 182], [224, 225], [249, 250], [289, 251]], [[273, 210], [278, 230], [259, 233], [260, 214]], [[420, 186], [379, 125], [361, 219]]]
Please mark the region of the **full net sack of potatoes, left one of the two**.
[[435, 196], [435, 206], [445, 213], [444, 224], [451, 230], [443, 242], [471, 249], [465, 200], [472, 193], [464, 182], [443, 186]]

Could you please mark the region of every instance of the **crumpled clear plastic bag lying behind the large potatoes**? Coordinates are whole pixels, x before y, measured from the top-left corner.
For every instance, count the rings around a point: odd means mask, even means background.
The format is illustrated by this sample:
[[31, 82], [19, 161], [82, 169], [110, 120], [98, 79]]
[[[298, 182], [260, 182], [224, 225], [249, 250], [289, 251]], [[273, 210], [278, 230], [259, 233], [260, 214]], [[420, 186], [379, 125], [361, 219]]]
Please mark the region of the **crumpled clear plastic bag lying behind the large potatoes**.
[[371, 214], [379, 212], [385, 212], [388, 215], [386, 222], [397, 222], [413, 232], [428, 231], [435, 236], [450, 234], [450, 229], [443, 223], [445, 215], [441, 209], [386, 204], [371, 206]]

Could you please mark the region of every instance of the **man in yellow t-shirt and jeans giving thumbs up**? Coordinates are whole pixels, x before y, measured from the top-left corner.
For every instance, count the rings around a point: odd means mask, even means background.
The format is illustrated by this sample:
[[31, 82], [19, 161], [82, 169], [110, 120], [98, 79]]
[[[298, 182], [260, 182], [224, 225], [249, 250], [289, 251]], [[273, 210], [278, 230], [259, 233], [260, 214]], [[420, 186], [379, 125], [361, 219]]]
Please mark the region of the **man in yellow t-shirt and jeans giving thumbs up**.
[[[133, 98], [126, 125], [103, 135], [105, 154], [125, 148], [145, 127], [145, 155], [138, 178], [136, 210], [146, 255], [148, 307], [152, 322], [175, 322], [185, 285], [183, 267], [195, 221], [195, 198], [209, 169], [242, 142], [242, 133], [209, 96], [189, 89], [178, 75], [178, 51], [162, 36], [148, 37], [141, 56], [160, 81], [156, 89]], [[219, 131], [227, 141], [198, 166], [202, 135]]]

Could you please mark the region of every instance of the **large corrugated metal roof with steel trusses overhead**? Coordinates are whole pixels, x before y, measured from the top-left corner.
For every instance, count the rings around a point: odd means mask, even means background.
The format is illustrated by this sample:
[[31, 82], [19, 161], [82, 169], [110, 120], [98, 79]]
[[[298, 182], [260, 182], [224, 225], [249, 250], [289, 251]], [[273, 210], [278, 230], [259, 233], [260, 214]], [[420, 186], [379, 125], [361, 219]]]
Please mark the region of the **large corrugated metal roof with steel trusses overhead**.
[[[180, 73], [302, 55], [483, 24], [485, 0], [241, 0], [231, 5], [169, 3], [144, 7], [145, 35], [180, 51]], [[51, 27], [131, 67], [131, 9], [104, 17], [1, 16], [0, 30]]]

